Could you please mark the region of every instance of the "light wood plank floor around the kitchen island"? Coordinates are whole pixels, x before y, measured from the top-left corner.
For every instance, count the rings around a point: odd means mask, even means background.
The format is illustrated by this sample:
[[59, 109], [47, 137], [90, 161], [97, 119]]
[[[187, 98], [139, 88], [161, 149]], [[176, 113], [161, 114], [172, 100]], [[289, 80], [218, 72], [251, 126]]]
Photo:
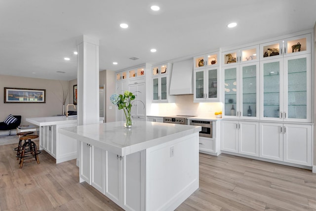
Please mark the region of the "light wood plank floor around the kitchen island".
[[[119, 211], [107, 197], [79, 183], [76, 161], [19, 169], [16, 144], [0, 146], [0, 211]], [[38, 145], [39, 146], [39, 145]], [[177, 211], [316, 210], [316, 174], [231, 155], [200, 154], [199, 186]]]

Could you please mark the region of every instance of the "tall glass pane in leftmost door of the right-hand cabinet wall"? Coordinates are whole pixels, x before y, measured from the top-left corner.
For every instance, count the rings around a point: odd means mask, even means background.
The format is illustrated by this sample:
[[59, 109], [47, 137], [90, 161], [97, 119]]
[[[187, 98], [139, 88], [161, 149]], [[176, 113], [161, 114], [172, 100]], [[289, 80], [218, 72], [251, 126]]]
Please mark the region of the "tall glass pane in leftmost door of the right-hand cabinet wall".
[[236, 116], [237, 68], [225, 69], [225, 116]]

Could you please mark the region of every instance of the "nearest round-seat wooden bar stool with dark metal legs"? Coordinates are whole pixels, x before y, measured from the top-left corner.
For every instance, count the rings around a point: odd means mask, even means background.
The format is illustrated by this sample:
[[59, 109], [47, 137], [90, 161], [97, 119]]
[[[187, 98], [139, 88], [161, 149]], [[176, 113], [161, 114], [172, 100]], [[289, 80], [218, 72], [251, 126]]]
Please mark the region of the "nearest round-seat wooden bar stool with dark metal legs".
[[38, 164], [40, 164], [39, 161], [39, 154], [40, 151], [37, 150], [36, 144], [32, 141], [34, 138], [38, 138], [38, 135], [25, 135], [21, 136], [19, 139], [22, 141], [24, 140], [24, 144], [22, 146], [22, 149], [20, 148], [17, 151], [17, 158], [20, 158], [20, 169], [23, 167], [24, 159], [30, 159], [35, 158]]

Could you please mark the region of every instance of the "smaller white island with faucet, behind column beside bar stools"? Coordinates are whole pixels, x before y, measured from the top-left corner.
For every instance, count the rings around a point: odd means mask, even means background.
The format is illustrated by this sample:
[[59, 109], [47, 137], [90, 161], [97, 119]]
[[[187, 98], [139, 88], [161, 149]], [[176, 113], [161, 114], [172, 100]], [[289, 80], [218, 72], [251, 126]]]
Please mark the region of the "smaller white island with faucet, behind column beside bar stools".
[[40, 127], [40, 150], [56, 159], [56, 164], [77, 158], [77, 140], [58, 132], [60, 127], [77, 126], [77, 116], [26, 118]]

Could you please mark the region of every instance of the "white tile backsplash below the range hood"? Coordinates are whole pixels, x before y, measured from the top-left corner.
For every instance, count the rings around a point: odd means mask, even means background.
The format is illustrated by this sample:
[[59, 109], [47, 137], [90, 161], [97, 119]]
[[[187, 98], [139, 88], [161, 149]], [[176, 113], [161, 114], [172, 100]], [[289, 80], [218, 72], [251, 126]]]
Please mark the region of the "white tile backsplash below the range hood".
[[177, 95], [174, 103], [153, 103], [148, 116], [210, 116], [222, 111], [222, 103], [194, 103], [192, 95]]

